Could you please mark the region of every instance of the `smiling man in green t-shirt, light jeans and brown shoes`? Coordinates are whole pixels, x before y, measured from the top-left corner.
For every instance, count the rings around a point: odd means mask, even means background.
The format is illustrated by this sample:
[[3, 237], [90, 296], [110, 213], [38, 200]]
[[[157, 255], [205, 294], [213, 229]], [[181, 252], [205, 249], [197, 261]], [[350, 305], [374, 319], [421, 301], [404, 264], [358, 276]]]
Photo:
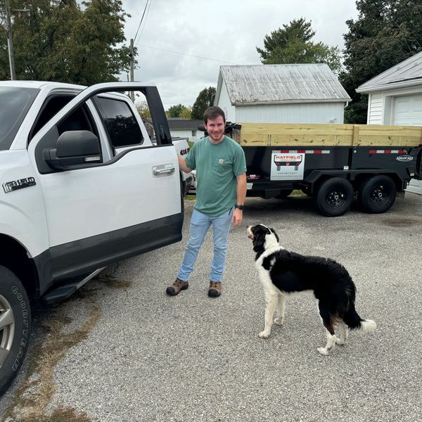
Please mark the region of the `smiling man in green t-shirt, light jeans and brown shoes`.
[[245, 153], [238, 143], [224, 135], [226, 117], [221, 108], [207, 108], [204, 123], [208, 136], [193, 144], [186, 159], [179, 157], [182, 171], [188, 173], [196, 169], [196, 203], [184, 260], [177, 279], [172, 286], [167, 287], [168, 295], [178, 295], [181, 290], [188, 288], [200, 246], [211, 225], [214, 257], [208, 295], [221, 295], [230, 224], [232, 222], [238, 226], [243, 219], [246, 196]]

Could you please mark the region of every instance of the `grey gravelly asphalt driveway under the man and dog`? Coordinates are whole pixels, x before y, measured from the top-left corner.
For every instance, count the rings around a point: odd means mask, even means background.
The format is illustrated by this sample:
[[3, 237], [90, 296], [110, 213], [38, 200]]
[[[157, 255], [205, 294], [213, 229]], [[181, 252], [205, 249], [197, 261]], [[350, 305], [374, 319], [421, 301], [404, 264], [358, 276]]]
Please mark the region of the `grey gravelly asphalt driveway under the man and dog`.
[[[422, 196], [407, 193], [383, 215], [336, 218], [316, 214], [306, 196], [248, 198], [229, 237], [222, 296], [207, 297], [208, 234], [188, 290], [168, 297], [192, 207], [186, 203], [181, 243], [109, 267], [56, 307], [36, 307], [27, 362], [36, 352], [42, 360], [51, 338], [92, 323], [53, 364], [42, 412], [68, 408], [102, 422], [422, 421]], [[259, 222], [274, 227], [284, 248], [343, 263], [357, 285], [357, 311], [377, 322], [375, 333], [351, 333], [321, 356], [325, 331], [305, 293], [288, 301], [284, 326], [258, 338], [264, 295], [245, 227]], [[61, 334], [45, 327], [57, 315], [66, 316]], [[20, 420], [36, 394], [18, 390], [29, 366], [0, 399], [7, 421]], [[31, 379], [33, 390], [39, 376]], [[20, 404], [11, 408], [14, 399]]]

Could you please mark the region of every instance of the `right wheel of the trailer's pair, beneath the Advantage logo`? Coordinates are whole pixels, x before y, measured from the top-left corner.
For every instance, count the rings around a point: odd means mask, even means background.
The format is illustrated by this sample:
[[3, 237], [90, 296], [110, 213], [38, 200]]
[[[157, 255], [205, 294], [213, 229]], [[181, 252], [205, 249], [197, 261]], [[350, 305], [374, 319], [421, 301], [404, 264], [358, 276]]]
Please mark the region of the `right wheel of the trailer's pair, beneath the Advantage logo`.
[[357, 203], [364, 212], [379, 214], [394, 204], [396, 187], [391, 177], [378, 174], [366, 179], [357, 191]]

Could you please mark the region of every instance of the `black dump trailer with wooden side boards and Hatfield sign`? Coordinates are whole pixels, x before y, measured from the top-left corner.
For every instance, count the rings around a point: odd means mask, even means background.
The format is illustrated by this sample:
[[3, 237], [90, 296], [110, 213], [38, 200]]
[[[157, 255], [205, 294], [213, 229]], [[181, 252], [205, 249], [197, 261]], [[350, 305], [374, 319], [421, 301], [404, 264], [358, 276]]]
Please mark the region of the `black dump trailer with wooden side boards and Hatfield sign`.
[[245, 151], [248, 196], [301, 189], [330, 217], [354, 196], [364, 212], [385, 212], [422, 178], [422, 127], [228, 122], [226, 133]]

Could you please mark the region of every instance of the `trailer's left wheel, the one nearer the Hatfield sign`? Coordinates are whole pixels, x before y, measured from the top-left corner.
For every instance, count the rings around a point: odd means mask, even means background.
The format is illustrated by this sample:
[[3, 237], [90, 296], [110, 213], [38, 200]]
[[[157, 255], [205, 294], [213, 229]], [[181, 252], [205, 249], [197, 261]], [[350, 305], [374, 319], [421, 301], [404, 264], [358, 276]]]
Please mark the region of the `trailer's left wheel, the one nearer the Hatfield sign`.
[[341, 177], [326, 179], [314, 195], [314, 205], [322, 215], [338, 217], [347, 212], [353, 202], [353, 186]]

